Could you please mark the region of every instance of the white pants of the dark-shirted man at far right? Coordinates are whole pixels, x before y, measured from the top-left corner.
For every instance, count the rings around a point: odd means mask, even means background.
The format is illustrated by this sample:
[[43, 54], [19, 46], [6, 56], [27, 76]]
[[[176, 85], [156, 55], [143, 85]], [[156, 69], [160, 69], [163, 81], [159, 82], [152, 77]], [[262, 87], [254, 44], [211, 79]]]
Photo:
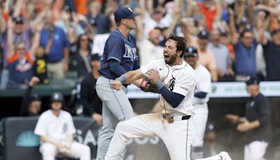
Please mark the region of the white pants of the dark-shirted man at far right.
[[268, 142], [253, 141], [244, 147], [244, 160], [265, 160]]

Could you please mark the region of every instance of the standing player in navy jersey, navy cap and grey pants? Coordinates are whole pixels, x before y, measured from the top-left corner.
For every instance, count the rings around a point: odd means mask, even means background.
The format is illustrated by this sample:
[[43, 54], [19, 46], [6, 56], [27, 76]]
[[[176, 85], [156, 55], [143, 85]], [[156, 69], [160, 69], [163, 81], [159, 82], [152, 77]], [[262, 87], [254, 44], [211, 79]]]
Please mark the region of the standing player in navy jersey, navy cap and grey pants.
[[113, 91], [110, 83], [125, 72], [138, 69], [136, 39], [130, 31], [135, 29], [135, 18], [138, 14], [131, 8], [118, 8], [115, 13], [118, 28], [114, 30], [106, 41], [97, 79], [97, 95], [102, 100], [103, 126], [99, 135], [97, 159], [104, 159], [111, 138], [119, 121], [130, 119], [133, 109], [123, 86], [120, 91]]

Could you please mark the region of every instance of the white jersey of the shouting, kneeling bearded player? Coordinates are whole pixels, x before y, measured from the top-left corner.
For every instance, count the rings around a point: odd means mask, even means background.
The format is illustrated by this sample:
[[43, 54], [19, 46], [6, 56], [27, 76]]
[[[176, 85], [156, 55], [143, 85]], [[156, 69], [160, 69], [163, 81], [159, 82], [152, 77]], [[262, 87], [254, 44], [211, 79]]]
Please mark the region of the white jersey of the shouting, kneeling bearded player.
[[158, 70], [158, 72], [160, 72], [160, 79], [167, 89], [185, 96], [176, 108], [172, 107], [172, 105], [161, 96], [161, 105], [164, 105], [166, 109], [165, 111], [165, 109], [162, 108], [162, 113], [194, 114], [193, 95], [195, 91], [195, 72], [190, 65], [183, 62], [181, 65], [170, 66], [165, 63], [165, 60], [153, 60], [147, 65], [141, 66], [140, 69], [143, 74], [146, 74], [149, 69]]

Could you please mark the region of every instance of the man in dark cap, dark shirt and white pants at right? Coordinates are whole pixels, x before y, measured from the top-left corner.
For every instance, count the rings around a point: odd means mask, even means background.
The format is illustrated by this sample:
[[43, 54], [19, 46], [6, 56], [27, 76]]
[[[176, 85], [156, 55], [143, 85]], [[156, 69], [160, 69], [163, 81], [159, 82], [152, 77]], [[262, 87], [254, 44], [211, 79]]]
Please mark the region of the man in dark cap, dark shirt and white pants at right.
[[228, 114], [226, 117], [237, 124], [237, 131], [244, 132], [244, 160], [264, 159], [272, 137], [268, 99], [259, 91], [260, 81], [251, 77], [246, 81], [246, 90], [251, 98], [246, 103], [246, 116]]

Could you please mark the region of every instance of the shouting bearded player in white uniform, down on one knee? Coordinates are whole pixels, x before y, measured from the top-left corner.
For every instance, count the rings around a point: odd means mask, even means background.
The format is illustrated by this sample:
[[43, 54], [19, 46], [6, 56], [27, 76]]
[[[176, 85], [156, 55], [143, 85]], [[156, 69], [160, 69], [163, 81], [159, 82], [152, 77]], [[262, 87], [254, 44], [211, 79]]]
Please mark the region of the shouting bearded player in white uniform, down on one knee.
[[190, 159], [190, 145], [195, 139], [193, 126], [193, 95], [195, 72], [181, 58], [186, 40], [169, 36], [163, 51], [164, 60], [153, 60], [140, 69], [127, 72], [111, 83], [119, 92], [122, 84], [147, 77], [161, 93], [160, 112], [141, 114], [116, 126], [106, 159], [120, 159], [130, 138], [159, 136], [172, 160]]

